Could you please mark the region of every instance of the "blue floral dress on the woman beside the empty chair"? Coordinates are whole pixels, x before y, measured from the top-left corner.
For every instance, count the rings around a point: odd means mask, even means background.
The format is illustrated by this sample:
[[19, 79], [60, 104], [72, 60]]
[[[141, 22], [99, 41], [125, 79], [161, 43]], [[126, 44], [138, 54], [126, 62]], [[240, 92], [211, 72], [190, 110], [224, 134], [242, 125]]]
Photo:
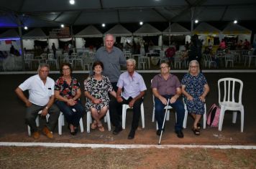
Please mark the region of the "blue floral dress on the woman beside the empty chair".
[[196, 115], [204, 115], [204, 102], [201, 102], [199, 98], [204, 93], [204, 85], [207, 84], [204, 74], [199, 73], [197, 76], [192, 76], [189, 73], [185, 74], [181, 80], [181, 84], [186, 86], [186, 92], [193, 97], [193, 100], [190, 101], [187, 100], [186, 96], [183, 96], [188, 112]]

